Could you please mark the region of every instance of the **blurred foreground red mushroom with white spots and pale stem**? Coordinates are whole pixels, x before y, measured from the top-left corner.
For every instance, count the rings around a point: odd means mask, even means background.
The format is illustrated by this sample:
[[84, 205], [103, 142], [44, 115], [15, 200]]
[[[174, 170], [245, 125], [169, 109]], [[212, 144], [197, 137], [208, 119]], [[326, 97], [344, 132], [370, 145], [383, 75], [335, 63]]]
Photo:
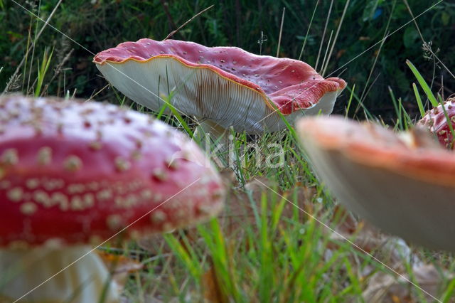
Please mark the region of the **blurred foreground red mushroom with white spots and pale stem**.
[[[222, 207], [217, 171], [162, 122], [58, 98], [7, 95], [0, 108], [1, 299], [98, 302], [109, 271], [90, 243], [164, 232]], [[105, 299], [119, 301], [114, 282]]]

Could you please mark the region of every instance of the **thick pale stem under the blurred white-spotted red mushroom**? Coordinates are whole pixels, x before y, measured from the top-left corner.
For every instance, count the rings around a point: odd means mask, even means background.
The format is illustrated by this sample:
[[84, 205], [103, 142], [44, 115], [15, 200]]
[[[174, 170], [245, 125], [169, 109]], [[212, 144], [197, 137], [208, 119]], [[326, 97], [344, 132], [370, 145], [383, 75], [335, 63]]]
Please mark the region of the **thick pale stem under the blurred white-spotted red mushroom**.
[[87, 245], [0, 250], [0, 302], [119, 302], [119, 287], [90, 251]]

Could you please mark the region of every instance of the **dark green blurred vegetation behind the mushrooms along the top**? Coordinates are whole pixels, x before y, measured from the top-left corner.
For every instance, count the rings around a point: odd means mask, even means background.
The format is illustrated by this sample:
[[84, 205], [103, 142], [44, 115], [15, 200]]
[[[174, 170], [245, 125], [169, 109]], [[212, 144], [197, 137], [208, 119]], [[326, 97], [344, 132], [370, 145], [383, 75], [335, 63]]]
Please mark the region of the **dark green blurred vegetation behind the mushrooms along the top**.
[[[57, 3], [58, 0], [18, 1], [44, 20]], [[0, 0], [2, 90], [31, 46], [29, 39], [33, 41], [44, 25], [18, 4]], [[433, 4], [437, 5], [422, 14]], [[455, 90], [455, 79], [428, 49], [422, 48], [424, 41], [429, 43], [449, 70], [454, 66], [455, 3], [451, 1], [409, 1], [408, 6], [402, 0], [351, 0], [343, 17], [346, 0], [92, 0], [63, 1], [50, 20], [52, 26], [79, 45], [49, 26], [36, 40], [33, 58], [41, 60], [46, 49], [54, 48], [50, 70], [43, 82], [53, 77], [56, 68], [60, 71], [57, 81], [50, 83], [44, 93], [63, 95], [65, 90], [72, 94], [76, 90], [77, 97], [90, 97], [106, 84], [91, 63], [95, 53], [124, 41], [144, 37], [163, 39], [211, 5], [214, 5], [212, 9], [188, 23], [173, 38], [276, 55], [282, 11], [286, 9], [279, 56], [301, 57], [321, 71], [323, 58], [330, 55], [324, 64], [324, 75], [341, 76], [350, 87], [355, 84], [358, 97], [374, 115], [385, 118], [393, 115], [389, 87], [395, 97], [402, 97], [410, 115], [417, 113], [411, 86], [414, 77], [405, 64], [406, 59], [419, 67], [434, 91], [441, 90], [447, 96]], [[411, 14], [422, 16], [414, 23]], [[388, 34], [390, 37], [380, 43]], [[63, 62], [71, 50], [73, 53]], [[21, 79], [16, 81], [21, 85], [9, 90], [26, 87], [30, 90], [38, 68], [33, 58], [29, 56], [28, 64], [19, 71], [26, 80], [25, 85]], [[104, 90], [97, 98], [106, 99], [109, 93], [112, 91]], [[335, 112], [344, 112], [347, 95], [338, 101]]]

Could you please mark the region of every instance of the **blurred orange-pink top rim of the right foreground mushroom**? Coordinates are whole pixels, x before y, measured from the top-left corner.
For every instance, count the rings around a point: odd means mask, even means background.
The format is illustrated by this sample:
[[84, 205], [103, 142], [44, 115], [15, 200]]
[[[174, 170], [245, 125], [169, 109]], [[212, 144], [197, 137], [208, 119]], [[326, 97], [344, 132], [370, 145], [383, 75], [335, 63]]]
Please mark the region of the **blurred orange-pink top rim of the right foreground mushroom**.
[[[337, 116], [302, 118], [296, 128], [301, 137], [322, 149], [338, 151], [350, 161], [455, 187], [455, 154], [437, 144], [411, 147], [390, 129]], [[416, 139], [424, 134], [417, 133]]]

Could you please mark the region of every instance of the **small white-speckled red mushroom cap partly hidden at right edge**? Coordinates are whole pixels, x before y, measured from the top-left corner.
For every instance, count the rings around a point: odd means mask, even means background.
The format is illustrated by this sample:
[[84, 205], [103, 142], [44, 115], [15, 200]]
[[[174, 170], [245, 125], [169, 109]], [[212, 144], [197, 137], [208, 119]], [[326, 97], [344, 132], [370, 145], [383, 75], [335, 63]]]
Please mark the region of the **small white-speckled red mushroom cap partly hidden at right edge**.
[[444, 106], [447, 117], [449, 117], [452, 129], [455, 129], [455, 98], [449, 98], [443, 105], [438, 105], [438, 107], [429, 110], [427, 114], [420, 119], [418, 124], [427, 127], [430, 132], [436, 134], [439, 142], [444, 147], [454, 149], [454, 138], [452, 137], [449, 122], [446, 119], [442, 106]]

